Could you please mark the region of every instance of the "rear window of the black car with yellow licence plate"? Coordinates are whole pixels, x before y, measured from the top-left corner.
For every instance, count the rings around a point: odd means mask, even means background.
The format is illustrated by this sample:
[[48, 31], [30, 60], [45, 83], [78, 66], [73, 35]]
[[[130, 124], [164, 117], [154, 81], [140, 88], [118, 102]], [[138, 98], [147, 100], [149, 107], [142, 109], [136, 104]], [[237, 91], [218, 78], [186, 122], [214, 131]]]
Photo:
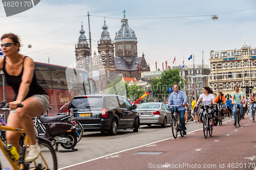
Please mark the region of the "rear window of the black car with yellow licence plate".
[[86, 96], [74, 98], [70, 108], [95, 108], [101, 107], [102, 96]]

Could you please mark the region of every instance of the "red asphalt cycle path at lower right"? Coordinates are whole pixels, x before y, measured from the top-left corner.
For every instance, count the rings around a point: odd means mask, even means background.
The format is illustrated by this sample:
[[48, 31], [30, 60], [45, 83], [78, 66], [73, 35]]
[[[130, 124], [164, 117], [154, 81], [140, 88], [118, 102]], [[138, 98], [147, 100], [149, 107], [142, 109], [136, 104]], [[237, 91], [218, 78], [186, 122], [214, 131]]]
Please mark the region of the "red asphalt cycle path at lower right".
[[[256, 165], [255, 128], [256, 122], [253, 123], [247, 116], [242, 120], [241, 127], [233, 126], [233, 121], [214, 127], [212, 136], [208, 135], [207, 139], [202, 130], [192, 133], [187, 130], [184, 137], [160, 141], [67, 169], [253, 169]], [[170, 135], [171, 131], [166, 138]], [[138, 152], [164, 153], [135, 154]]]

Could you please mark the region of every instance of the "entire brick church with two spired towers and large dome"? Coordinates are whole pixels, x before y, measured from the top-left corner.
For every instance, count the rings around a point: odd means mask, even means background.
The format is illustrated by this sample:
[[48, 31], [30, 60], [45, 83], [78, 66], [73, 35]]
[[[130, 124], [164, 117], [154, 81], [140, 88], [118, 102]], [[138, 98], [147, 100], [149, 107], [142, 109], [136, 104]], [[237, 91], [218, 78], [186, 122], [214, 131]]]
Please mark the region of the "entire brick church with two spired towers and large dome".
[[[82, 27], [75, 47], [76, 66], [86, 69], [90, 63], [90, 47]], [[114, 41], [110, 38], [105, 20], [102, 29], [101, 38], [98, 41], [98, 55], [94, 53], [92, 57], [94, 61], [93, 69], [97, 69], [97, 65], [94, 65], [94, 63], [102, 63], [108, 78], [113, 74], [122, 74], [123, 77], [136, 79], [141, 77], [141, 72], [150, 71], [150, 66], [147, 65], [144, 54], [138, 57], [137, 37], [129, 27], [125, 14], [121, 20], [121, 28], [116, 32]]]

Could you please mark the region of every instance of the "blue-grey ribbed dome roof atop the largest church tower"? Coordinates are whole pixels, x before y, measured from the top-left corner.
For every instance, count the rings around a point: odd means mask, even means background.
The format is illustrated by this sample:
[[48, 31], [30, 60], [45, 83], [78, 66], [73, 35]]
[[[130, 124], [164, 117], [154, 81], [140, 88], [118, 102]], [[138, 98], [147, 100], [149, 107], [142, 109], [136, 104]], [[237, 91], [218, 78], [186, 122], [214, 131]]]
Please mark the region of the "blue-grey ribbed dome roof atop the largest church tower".
[[122, 23], [121, 29], [118, 32], [116, 32], [115, 41], [116, 42], [120, 42], [120, 41], [136, 41], [137, 42], [137, 37], [135, 35], [135, 32], [131, 28], [129, 28], [128, 19], [125, 18], [125, 16], [121, 20], [121, 23]]

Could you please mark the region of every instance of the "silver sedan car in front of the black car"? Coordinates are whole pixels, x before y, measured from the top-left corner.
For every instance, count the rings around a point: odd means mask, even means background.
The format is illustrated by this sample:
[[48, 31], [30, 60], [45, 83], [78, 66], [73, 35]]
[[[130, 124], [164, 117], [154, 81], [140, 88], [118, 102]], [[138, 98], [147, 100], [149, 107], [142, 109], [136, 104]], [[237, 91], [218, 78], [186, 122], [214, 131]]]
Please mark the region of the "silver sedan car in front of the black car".
[[172, 122], [172, 114], [167, 105], [162, 102], [142, 103], [136, 109], [140, 117], [140, 125], [161, 125], [165, 128]]

